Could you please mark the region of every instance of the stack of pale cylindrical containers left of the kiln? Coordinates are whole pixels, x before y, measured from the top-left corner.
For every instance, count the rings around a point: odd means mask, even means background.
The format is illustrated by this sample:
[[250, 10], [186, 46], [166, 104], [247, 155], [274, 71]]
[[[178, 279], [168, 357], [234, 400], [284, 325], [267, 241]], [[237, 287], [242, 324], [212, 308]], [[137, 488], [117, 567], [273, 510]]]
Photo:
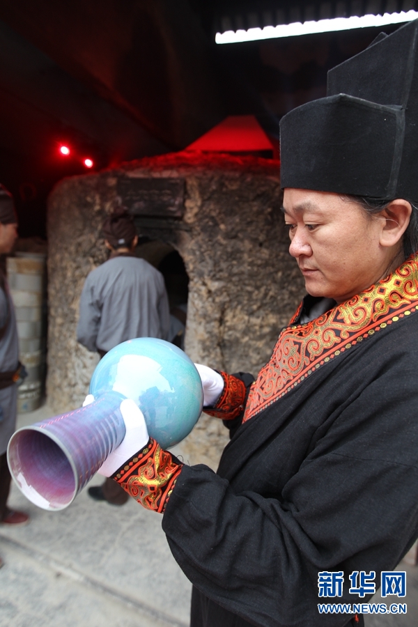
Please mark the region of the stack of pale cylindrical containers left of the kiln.
[[19, 358], [28, 373], [18, 388], [17, 412], [31, 412], [40, 407], [45, 380], [46, 256], [18, 252], [6, 263], [15, 305]]

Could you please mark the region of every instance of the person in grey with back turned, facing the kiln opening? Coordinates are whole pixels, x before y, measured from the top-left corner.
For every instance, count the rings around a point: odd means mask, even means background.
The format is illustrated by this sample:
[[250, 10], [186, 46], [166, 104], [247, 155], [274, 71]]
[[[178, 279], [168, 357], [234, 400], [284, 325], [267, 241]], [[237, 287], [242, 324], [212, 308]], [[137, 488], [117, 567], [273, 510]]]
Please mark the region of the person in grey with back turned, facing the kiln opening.
[[[117, 208], [105, 220], [102, 234], [110, 256], [84, 283], [77, 341], [103, 357], [117, 344], [135, 337], [167, 339], [170, 314], [164, 277], [134, 255], [138, 237], [132, 216]], [[128, 499], [110, 480], [89, 488], [88, 494], [114, 505], [123, 505]]]

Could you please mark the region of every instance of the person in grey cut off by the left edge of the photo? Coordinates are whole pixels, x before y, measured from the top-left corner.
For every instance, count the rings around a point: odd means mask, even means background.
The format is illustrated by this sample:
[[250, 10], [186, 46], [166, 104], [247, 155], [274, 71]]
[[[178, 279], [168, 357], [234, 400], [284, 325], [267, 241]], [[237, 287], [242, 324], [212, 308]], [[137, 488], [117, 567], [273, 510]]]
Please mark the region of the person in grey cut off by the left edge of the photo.
[[[10, 253], [16, 238], [17, 215], [13, 196], [0, 185], [0, 254]], [[6, 277], [0, 269], [0, 525], [22, 525], [29, 520], [26, 513], [7, 505], [11, 477], [6, 449], [15, 431], [19, 371], [15, 311]]]

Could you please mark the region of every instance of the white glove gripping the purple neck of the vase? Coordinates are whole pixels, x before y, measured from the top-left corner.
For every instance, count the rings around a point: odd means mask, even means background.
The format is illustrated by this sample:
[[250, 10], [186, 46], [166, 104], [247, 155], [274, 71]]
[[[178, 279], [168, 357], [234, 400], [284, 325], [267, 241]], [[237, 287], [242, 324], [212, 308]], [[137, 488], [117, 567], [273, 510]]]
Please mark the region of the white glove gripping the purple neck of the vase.
[[[84, 400], [83, 407], [90, 405], [93, 401], [93, 394], [88, 394]], [[125, 401], [121, 403], [120, 409], [126, 427], [125, 438], [100, 466], [98, 473], [102, 474], [103, 477], [111, 477], [112, 474], [115, 474], [116, 470], [125, 461], [134, 456], [135, 453], [143, 449], [149, 440], [144, 414], [136, 403], [131, 401], [130, 398], [125, 398]]]

